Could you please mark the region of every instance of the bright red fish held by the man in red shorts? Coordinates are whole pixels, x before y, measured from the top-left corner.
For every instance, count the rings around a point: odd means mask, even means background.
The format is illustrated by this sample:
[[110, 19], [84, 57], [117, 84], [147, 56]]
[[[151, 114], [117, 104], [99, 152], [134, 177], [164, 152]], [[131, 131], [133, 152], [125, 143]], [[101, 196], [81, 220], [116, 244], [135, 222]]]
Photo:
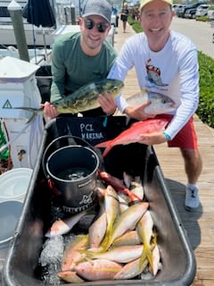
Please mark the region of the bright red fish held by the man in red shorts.
[[106, 156], [112, 147], [116, 145], [127, 145], [130, 143], [136, 143], [140, 141], [141, 133], [152, 133], [155, 131], [161, 131], [165, 129], [169, 123], [168, 119], [147, 119], [143, 122], [133, 123], [127, 130], [122, 131], [118, 137], [108, 141], [96, 144], [95, 147], [105, 147], [103, 157]]

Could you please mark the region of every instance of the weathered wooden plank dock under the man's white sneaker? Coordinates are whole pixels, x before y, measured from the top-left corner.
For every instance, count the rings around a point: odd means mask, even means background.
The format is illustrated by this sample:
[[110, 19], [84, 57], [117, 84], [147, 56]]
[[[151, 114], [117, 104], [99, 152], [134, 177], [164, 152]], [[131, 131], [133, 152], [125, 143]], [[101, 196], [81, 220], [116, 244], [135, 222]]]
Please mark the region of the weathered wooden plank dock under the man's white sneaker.
[[[119, 52], [128, 37], [135, 32], [128, 25], [126, 33], [122, 31], [122, 22], [114, 36], [114, 46]], [[128, 72], [123, 94], [129, 97], [139, 91], [136, 72]], [[177, 206], [178, 214], [185, 227], [196, 257], [197, 273], [192, 286], [214, 285], [214, 130], [194, 116], [199, 139], [203, 169], [198, 181], [201, 206], [195, 212], [185, 211], [186, 176], [184, 161], [178, 148], [169, 148], [166, 144], [154, 146], [161, 164], [161, 170]], [[173, 243], [173, 241], [172, 241]], [[188, 286], [188, 285], [186, 285]]]

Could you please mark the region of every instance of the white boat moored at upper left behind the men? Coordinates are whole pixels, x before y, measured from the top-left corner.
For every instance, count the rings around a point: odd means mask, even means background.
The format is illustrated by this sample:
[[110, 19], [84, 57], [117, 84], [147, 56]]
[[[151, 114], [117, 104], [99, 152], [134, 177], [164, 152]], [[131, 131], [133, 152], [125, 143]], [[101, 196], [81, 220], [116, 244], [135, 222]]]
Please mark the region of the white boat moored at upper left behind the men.
[[[21, 5], [21, 11], [25, 9], [28, 4], [28, 0], [17, 0], [17, 4]], [[54, 3], [53, 3], [54, 2]], [[17, 47], [12, 19], [8, 11], [8, 5], [11, 0], [0, 1], [0, 38], [4, 39], [1, 41], [3, 46], [14, 46]], [[81, 14], [84, 0], [55, 0], [51, 1], [50, 4], [53, 7], [55, 13], [56, 25], [51, 28], [37, 27], [29, 24], [26, 18], [22, 17], [23, 26], [26, 36], [26, 42], [29, 48], [51, 48], [56, 36], [59, 36], [65, 31], [77, 31], [78, 29], [78, 17]], [[75, 27], [76, 26], [76, 27]], [[115, 15], [111, 16], [111, 26], [115, 25]], [[112, 29], [107, 40], [113, 44]]]

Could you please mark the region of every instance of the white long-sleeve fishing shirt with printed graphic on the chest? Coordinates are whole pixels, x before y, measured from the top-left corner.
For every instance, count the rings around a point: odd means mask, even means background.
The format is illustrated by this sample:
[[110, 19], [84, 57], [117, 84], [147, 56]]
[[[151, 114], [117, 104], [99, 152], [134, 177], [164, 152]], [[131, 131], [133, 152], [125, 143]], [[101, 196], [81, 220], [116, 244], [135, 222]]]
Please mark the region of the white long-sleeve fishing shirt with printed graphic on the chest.
[[[136, 34], [122, 46], [108, 75], [110, 79], [125, 80], [135, 67], [140, 89], [171, 97], [176, 103], [173, 120], [167, 133], [173, 139], [195, 113], [199, 101], [199, 72], [196, 46], [184, 35], [170, 31], [166, 45], [152, 52], [144, 32]], [[121, 112], [128, 106], [119, 95], [116, 104]]]

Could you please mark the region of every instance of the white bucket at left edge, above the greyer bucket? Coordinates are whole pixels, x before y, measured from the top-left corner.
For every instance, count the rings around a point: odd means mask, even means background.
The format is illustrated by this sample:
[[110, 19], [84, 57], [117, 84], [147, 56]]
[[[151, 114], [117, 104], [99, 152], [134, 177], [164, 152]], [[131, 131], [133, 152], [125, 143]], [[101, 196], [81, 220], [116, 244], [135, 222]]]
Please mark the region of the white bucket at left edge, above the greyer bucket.
[[0, 202], [19, 200], [23, 202], [29, 188], [33, 170], [29, 168], [14, 168], [0, 175]]

